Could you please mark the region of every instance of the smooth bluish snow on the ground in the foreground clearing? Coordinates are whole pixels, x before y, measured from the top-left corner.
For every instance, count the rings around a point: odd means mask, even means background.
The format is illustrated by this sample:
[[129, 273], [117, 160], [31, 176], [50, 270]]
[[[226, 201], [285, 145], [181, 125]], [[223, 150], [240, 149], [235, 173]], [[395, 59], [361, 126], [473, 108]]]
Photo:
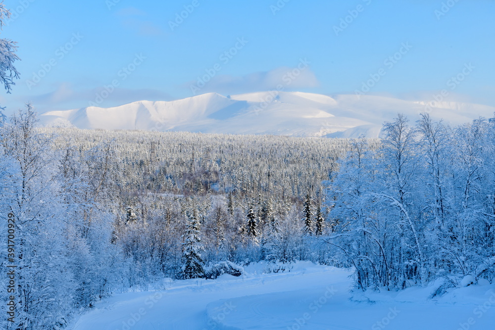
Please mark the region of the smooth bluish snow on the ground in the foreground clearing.
[[164, 290], [118, 294], [72, 329], [494, 329], [495, 285], [488, 283], [436, 300], [426, 299], [434, 286], [358, 292], [351, 299], [348, 270], [308, 262], [290, 272], [263, 274], [266, 268], [258, 263], [239, 278], [169, 281]]

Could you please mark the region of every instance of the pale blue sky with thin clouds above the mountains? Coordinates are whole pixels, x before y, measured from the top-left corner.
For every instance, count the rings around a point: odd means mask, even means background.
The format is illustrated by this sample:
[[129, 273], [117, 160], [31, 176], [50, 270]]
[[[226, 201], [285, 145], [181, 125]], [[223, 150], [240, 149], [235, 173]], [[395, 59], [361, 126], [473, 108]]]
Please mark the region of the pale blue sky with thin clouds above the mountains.
[[6, 113], [277, 89], [495, 106], [495, 0], [3, 3]]

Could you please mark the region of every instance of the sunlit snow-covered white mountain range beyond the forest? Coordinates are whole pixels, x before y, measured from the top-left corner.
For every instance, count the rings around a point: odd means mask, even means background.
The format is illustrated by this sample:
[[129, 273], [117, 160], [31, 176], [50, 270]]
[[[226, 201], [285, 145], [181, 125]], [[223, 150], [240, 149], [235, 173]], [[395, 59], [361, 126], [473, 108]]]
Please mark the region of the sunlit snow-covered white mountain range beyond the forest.
[[272, 134], [303, 137], [377, 137], [398, 112], [416, 120], [430, 112], [456, 125], [493, 117], [495, 107], [460, 102], [406, 101], [369, 95], [334, 97], [300, 92], [202, 94], [176, 101], [138, 101], [112, 108], [49, 111], [49, 126], [84, 129]]

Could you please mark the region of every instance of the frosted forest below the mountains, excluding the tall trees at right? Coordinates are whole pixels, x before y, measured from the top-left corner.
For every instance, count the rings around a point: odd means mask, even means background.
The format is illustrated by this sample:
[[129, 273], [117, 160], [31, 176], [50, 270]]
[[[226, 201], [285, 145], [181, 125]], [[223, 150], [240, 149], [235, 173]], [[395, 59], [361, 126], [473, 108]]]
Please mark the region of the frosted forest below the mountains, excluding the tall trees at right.
[[1, 212], [15, 216], [19, 258], [15, 329], [63, 328], [101, 297], [164, 277], [338, 262], [319, 243], [333, 227], [321, 183], [346, 140], [36, 125], [28, 105], [0, 131]]

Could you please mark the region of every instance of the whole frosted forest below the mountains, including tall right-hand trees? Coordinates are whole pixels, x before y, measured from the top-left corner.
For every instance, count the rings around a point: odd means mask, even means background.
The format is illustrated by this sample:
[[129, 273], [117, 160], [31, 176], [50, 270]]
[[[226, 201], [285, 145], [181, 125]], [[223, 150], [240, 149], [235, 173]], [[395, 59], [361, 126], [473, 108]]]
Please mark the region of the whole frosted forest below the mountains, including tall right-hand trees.
[[262, 260], [353, 267], [362, 290], [494, 279], [491, 120], [398, 115], [381, 140], [36, 125], [27, 105], [0, 129], [19, 264], [2, 329], [63, 329], [102, 297]]

